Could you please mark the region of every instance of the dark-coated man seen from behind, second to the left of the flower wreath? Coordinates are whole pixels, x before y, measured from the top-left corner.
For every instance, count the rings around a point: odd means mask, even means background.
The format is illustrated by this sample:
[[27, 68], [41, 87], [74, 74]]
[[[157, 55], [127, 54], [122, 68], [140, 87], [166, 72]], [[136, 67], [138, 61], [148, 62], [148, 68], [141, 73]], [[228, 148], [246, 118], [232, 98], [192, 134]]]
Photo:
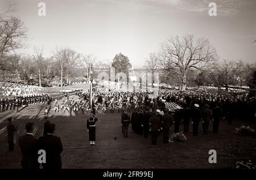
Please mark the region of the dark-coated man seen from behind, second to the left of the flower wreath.
[[158, 134], [160, 131], [160, 118], [156, 116], [156, 112], [152, 113], [150, 119], [150, 125], [151, 125], [151, 140], [152, 145], [156, 145], [156, 140], [158, 138]]

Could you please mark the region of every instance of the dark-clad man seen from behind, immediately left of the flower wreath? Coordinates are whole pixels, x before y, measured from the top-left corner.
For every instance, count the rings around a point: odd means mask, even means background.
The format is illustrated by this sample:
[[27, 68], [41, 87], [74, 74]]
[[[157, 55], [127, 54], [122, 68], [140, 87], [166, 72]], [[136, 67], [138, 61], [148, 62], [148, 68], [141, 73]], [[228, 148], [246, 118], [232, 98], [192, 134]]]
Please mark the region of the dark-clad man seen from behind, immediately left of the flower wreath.
[[171, 114], [168, 114], [169, 109], [164, 109], [164, 115], [162, 117], [162, 123], [163, 123], [163, 143], [168, 143], [169, 133], [172, 121], [174, 121], [174, 118]]

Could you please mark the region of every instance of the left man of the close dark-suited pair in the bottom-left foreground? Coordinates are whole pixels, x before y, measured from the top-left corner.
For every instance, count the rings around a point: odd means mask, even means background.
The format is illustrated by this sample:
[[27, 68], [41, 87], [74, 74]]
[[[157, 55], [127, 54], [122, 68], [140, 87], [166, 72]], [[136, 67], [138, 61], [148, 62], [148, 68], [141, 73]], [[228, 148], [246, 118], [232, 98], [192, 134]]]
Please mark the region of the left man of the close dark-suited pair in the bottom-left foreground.
[[33, 136], [33, 130], [34, 123], [28, 122], [26, 124], [26, 135], [19, 137], [19, 147], [22, 152], [21, 165], [23, 169], [39, 169], [38, 139]]

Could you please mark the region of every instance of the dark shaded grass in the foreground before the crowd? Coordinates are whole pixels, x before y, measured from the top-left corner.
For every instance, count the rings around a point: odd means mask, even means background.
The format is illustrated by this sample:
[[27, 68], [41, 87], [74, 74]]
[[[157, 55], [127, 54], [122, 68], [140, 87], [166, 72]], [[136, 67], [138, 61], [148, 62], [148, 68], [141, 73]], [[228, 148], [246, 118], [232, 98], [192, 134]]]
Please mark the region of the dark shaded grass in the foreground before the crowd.
[[[237, 160], [250, 158], [256, 160], [256, 141], [252, 136], [239, 136], [234, 133], [242, 122], [228, 125], [220, 123], [220, 132], [198, 136], [185, 134], [187, 142], [162, 143], [162, 134], [157, 145], [151, 145], [151, 136], [144, 139], [129, 127], [129, 137], [123, 138], [121, 133], [121, 114], [99, 113], [96, 123], [96, 145], [90, 146], [86, 131], [87, 114], [49, 112], [49, 121], [56, 124], [56, 135], [63, 143], [61, 153], [63, 168], [234, 168]], [[28, 106], [19, 113], [14, 111], [0, 114], [0, 168], [21, 168], [21, 152], [15, 145], [14, 152], [8, 152], [6, 118], [14, 117], [14, 124], [18, 126], [18, 135], [24, 134], [24, 125], [34, 121], [36, 137], [43, 134], [44, 106]], [[253, 125], [255, 128], [255, 125]], [[190, 127], [191, 128], [191, 127]], [[180, 131], [183, 130], [181, 125]], [[173, 129], [171, 130], [173, 132]], [[116, 137], [116, 140], [115, 140]], [[217, 163], [209, 164], [208, 152], [217, 151]]]

